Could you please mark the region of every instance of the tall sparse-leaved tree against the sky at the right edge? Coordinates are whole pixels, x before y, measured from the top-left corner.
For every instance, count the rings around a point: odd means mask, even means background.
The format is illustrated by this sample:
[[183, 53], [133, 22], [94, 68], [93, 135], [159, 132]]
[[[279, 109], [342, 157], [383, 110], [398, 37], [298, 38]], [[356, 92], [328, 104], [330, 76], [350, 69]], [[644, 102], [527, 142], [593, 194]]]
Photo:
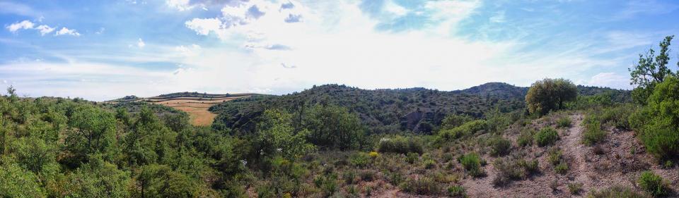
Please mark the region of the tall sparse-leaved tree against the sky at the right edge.
[[[670, 44], [674, 35], [667, 36], [658, 44], [660, 54], [655, 56], [653, 48], [646, 54], [639, 54], [639, 63], [634, 64], [634, 68], [628, 68], [629, 75], [632, 76], [630, 85], [637, 85], [632, 91], [632, 98], [639, 104], [645, 104], [646, 99], [653, 93], [656, 84], [665, 81], [668, 75], [673, 75], [668, 68], [670, 62]], [[678, 63], [679, 66], [679, 63]]]

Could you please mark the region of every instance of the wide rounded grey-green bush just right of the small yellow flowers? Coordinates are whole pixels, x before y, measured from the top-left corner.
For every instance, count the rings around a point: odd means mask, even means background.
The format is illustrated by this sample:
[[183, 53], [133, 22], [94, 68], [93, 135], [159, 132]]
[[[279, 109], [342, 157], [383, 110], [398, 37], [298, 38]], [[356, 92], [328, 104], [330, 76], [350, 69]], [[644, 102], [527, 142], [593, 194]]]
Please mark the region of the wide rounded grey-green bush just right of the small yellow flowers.
[[422, 154], [422, 151], [424, 151], [424, 146], [422, 140], [419, 140], [417, 137], [384, 137], [380, 140], [380, 142], [378, 142], [377, 151], [381, 153]]

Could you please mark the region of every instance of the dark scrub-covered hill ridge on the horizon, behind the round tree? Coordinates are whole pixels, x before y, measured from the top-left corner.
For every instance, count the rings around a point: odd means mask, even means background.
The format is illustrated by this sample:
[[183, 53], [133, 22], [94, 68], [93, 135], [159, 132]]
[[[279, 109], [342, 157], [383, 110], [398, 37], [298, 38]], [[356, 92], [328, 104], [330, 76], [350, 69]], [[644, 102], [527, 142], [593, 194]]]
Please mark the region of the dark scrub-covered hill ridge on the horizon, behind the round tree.
[[[578, 87], [582, 95], [610, 93], [617, 100], [629, 101], [624, 90]], [[501, 82], [458, 91], [446, 92], [424, 88], [409, 89], [359, 89], [344, 85], [314, 86], [303, 92], [283, 96], [236, 99], [212, 106], [218, 113], [216, 123], [226, 128], [250, 132], [257, 117], [269, 108], [294, 111], [300, 104], [334, 104], [348, 108], [368, 125], [372, 132], [390, 133], [412, 131], [429, 134], [451, 113], [483, 118], [484, 113], [499, 109], [501, 112], [522, 109], [528, 87], [516, 87]]]

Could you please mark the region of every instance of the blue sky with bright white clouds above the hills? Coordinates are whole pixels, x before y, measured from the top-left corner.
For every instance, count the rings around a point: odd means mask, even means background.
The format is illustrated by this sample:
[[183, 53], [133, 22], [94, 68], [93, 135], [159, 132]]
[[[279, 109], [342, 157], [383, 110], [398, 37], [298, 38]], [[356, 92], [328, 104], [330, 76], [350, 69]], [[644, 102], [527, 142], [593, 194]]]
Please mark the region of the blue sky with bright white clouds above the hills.
[[678, 21], [679, 1], [660, 0], [0, 0], [0, 87], [95, 101], [542, 78], [630, 89], [627, 68]]

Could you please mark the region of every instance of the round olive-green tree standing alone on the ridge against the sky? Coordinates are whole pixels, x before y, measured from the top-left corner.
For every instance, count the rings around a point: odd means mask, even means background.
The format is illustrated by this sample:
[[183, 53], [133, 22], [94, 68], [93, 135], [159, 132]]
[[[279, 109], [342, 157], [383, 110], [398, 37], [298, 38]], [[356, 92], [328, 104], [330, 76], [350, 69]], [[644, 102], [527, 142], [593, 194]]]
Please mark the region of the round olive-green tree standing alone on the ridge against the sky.
[[526, 94], [526, 104], [530, 113], [544, 115], [563, 109], [564, 102], [574, 101], [577, 97], [578, 88], [570, 80], [545, 78], [530, 86]]

